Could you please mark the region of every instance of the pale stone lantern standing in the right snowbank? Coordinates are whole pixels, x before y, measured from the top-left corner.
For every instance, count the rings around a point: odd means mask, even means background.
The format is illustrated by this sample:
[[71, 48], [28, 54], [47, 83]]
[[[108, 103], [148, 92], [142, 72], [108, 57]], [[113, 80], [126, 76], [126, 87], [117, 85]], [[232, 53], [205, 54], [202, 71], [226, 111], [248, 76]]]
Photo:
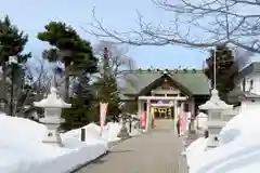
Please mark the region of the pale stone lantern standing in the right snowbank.
[[208, 111], [208, 143], [207, 148], [214, 148], [219, 145], [219, 133], [225, 125], [225, 121], [221, 119], [221, 112], [232, 108], [232, 105], [225, 104], [219, 98], [219, 93], [216, 89], [211, 91], [211, 97], [204, 105], [198, 106], [202, 110]]

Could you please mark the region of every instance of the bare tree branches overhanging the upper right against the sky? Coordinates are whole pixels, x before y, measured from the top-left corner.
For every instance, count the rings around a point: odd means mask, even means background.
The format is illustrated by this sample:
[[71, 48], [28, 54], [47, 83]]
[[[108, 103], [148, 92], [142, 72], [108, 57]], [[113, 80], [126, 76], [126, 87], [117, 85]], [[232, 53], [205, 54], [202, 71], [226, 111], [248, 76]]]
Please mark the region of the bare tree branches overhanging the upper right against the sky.
[[95, 15], [91, 31], [115, 43], [133, 45], [179, 44], [188, 48], [209, 48], [231, 43], [260, 53], [260, 2], [256, 0], [153, 0], [172, 18], [166, 26], [145, 22], [138, 12], [139, 28], [116, 31], [106, 28]]

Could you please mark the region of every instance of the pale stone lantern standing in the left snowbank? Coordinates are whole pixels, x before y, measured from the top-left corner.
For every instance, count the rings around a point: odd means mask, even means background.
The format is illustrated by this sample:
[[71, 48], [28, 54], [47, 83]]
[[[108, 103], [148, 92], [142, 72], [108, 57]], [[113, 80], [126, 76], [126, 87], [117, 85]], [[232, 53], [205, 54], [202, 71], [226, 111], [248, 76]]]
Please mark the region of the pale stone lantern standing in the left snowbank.
[[67, 104], [58, 97], [55, 88], [51, 88], [51, 93], [48, 94], [47, 98], [35, 102], [34, 104], [37, 107], [44, 108], [44, 118], [41, 118], [40, 122], [46, 124], [47, 133], [42, 142], [54, 146], [63, 146], [57, 128], [61, 123], [65, 122], [65, 120], [61, 118], [62, 108], [69, 108], [72, 104]]

